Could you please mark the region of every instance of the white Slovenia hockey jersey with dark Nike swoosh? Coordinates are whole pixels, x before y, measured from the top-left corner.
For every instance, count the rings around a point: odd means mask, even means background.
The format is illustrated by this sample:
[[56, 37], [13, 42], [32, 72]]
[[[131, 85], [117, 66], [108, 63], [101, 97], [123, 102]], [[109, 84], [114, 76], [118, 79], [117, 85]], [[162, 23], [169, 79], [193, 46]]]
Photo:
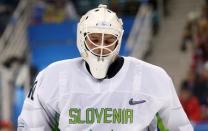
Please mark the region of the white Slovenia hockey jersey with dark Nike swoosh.
[[173, 83], [160, 67], [124, 57], [111, 79], [94, 79], [82, 58], [51, 64], [37, 76], [18, 131], [193, 131]]

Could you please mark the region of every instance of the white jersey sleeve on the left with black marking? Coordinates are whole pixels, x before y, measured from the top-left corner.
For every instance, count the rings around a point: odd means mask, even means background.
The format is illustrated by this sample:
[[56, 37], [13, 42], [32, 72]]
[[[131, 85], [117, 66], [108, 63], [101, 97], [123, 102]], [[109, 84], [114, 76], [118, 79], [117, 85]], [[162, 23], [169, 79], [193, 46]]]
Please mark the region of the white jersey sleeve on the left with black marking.
[[44, 104], [44, 100], [40, 99], [39, 92], [42, 89], [43, 71], [40, 72], [34, 82], [34, 86], [30, 89], [22, 112], [18, 117], [17, 131], [49, 131], [54, 128], [54, 114]]

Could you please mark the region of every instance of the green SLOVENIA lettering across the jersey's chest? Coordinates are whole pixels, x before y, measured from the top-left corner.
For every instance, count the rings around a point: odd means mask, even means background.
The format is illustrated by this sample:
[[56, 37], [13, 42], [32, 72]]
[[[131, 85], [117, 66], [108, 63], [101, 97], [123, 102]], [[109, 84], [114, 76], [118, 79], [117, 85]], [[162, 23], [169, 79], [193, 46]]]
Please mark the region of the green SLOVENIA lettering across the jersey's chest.
[[[133, 109], [122, 108], [87, 108], [82, 112], [80, 108], [69, 109], [69, 124], [113, 123], [132, 124]], [[85, 114], [83, 114], [85, 113]], [[82, 118], [85, 115], [85, 119]]]

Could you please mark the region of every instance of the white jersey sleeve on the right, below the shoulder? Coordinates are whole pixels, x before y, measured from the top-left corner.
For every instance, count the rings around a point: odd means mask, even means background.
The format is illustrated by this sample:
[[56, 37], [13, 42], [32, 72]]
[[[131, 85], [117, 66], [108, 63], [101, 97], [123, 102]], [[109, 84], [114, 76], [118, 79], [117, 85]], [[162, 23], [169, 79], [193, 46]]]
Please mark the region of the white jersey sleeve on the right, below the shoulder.
[[166, 105], [159, 111], [164, 126], [169, 131], [193, 131], [193, 127], [181, 106], [170, 77], [168, 77], [167, 86], [171, 88], [171, 94]]

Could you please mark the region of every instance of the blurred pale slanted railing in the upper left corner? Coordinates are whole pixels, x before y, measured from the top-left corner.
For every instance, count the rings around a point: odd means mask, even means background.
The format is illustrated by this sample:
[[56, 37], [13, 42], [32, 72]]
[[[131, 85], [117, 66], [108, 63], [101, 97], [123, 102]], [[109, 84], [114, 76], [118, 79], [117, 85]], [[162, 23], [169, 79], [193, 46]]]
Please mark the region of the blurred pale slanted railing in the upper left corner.
[[0, 62], [12, 56], [22, 57], [27, 49], [26, 28], [30, 17], [30, 1], [20, 0], [0, 38]]

